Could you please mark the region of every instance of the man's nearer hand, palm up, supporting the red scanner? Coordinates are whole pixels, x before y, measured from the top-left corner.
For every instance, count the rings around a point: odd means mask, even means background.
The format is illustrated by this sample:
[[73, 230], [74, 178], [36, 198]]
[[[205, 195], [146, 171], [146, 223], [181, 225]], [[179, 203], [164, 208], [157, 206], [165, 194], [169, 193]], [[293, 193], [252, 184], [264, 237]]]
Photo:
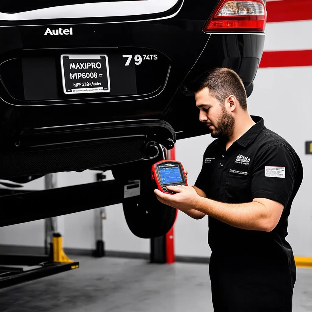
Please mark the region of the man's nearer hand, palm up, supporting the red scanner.
[[191, 186], [167, 186], [168, 190], [176, 192], [176, 194], [165, 194], [158, 189], [154, 190], [157, 199], [165, 205], [174, 207], [183, 212], [187, 212], [196, 208], [199, 199], [201, 198], [195, 189]]

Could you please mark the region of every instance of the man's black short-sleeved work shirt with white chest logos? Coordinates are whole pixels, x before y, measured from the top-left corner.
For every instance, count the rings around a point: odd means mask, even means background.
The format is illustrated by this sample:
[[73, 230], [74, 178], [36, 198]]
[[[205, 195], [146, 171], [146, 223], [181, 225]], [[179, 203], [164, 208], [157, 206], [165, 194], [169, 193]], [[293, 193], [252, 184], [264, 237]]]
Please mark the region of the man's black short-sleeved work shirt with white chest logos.
[[[226, 142], [216, 139], [206, 149], [202, 170], [195, 186], [207, 198], [220, 202], [244, 203], [268, 198], [284, 205], [278, 225], [271, 232], [243, 230], [208, 217], [208, 243], [212, 252], [224, 254], [270, 255], [286, 265], [294, 265], [287, 236], [290, 207], [303, 178], [300, 158], [283, 138], [256, 122], [226, 150]], [[233, 208], [235, 209], [235, 208]], [[286, 261], [286, 262], [284, 262]]]

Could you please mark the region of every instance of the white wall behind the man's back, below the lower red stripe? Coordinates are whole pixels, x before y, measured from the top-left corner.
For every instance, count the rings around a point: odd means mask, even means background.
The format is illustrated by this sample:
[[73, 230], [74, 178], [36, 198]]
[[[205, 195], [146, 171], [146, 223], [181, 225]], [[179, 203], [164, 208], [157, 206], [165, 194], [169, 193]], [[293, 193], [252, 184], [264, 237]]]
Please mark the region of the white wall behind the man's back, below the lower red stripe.
[[[289, 217], [288, 241], [297, 256], [312, 256], [312, 67], [267, 68], [258, 71], [250, 96], [251, 114], [264, 117], [265, 125], [286, 139], [299, 155], [304, 178]], [[260, 87], [261, 85], [261, 87]]]

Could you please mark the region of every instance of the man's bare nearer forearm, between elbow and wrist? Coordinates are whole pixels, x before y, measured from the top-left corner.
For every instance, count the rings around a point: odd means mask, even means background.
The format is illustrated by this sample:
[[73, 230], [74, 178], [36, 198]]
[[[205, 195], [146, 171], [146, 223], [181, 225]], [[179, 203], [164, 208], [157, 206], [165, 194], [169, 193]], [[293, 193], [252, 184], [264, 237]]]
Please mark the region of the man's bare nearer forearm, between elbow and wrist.
[[267, 209], [259, 202], [229, 204], [200, 197], [194, 208], [233, 227], [245, 230], [271, 231]]

